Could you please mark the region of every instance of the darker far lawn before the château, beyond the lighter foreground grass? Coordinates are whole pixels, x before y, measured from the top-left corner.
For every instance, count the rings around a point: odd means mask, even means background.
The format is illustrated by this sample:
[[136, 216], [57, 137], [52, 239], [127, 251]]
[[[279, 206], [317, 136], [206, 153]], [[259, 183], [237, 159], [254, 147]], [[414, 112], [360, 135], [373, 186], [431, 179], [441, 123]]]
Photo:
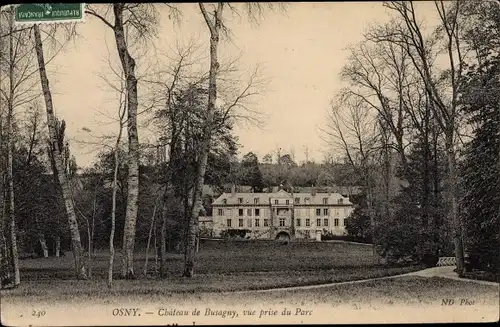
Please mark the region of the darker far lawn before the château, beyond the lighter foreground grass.
[[[149, 273], [154, 274], [155, 259], [149, 255]], [[135, 272], [142, 274], [145, 250], [137, 249]], [[168, 254], [169, 275], [178, 276], [183, 270], [183, 255]], [[118, 252], [115, 271], [121, 263]], [[376, 265], [372, 248], [349, 243], [289, 243], [277, 242], [214, 242], [200, 245], [196, 257], [196, 274], [235, 274], [247, 272], [317, 271], [333, 268], [368, 267]], [[93, 261], [93, 275], [105, 278], [108, 252], [97, 253]], [[38, 258], [21, 260], [21, 273], [25, 280], [73, 279], [73, 259], [70, 252], [61, 258]]]

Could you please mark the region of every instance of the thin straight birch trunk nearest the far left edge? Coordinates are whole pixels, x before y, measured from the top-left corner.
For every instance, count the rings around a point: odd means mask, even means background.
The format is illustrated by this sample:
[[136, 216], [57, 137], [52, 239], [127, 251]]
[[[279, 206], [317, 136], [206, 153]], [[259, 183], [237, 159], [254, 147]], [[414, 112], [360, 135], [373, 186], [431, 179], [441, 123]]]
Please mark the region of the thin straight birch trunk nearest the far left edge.
[[13, 174], [13, 142], [12, 142], [12, 124], [14, 118], [14, 16], [11, 15], [9, 19], [9, 99], [7, 101], [7, 181], [9, 192], [9, 218], [10, 218], [10, 241], [12, 253], [12, 265], [14, 268], [14, 285], [17, 286], [21, 283], [21, 275], [19, 274], [19, 255], [17, 250], [17, 227], [16, 227], [16, 213], [14, 202], [14, 174]]

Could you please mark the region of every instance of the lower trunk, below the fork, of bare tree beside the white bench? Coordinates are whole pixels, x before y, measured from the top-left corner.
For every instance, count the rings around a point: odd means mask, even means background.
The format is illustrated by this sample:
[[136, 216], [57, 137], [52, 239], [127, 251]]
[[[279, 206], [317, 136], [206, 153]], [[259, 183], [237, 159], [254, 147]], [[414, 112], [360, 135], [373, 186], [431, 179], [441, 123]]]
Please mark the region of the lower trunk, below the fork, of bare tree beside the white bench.
[[453, 130], [446, 131], [446, 163], [448, 166], [448, 197], [449, 197], [449, 221], [453, 226], [453, 245], [455, 247], [455, 259], [457, 274], [462, 276], [465, 272], [464, 248], [462, 243], [462, 224], [458, 212], [458, 176], [456, 167], [456, 154], [453, 145]]

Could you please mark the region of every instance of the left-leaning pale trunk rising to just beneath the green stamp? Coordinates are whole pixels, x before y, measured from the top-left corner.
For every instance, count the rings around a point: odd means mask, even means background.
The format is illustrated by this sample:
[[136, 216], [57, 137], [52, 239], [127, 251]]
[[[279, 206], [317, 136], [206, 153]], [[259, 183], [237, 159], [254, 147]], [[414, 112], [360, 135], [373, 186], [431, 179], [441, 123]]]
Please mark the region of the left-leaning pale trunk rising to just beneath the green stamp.
[[54, 108], [52, 104], [52, 94], [49, 88], [49, 80], [47, 78], [47, 72], [45, 71], [45, 59], [43, 57], [43, 45], [42, 38], [40, 37], [40, 30], [38, 25], [34, 25], [34, 35], [35, 35], [35, 50], [38, 59], [38, 68], [40, 72], [40, 82], [42, 86], [43, 96], [45, 99], [45, 107], [47, 112], [47, 124], [49, 127], [49, 139], [51, 143], [50, 151], [55, 163], [55, 172], [57, 180], [61, 187], [64, 206], [66, 209], [66, 215], [68, 217], [69, 229], [71, 233], [71, 245], [73, 250], [73, 257], [75, 259], [75, 270], [77, 278], [86, 279], [85, 265], [83, 263], [83, 248], [80, 240], [80, 231], [78, 229], [78, 221], [76, 219], [75, 208], [73, 207], [73, 201], [71, 198], [71, 191], [66, 179], [66, 174], [64, 170], [63, 160], [61, 156], [61, 149], [57, 142], [57, 131], [56, 131], [56, 117], [54, 114]]

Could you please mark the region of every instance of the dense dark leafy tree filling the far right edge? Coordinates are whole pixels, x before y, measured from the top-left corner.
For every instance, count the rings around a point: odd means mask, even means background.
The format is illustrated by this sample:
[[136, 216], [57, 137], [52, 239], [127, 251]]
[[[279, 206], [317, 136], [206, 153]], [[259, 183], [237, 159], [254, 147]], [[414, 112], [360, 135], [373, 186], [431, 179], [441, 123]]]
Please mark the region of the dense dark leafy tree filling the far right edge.
[[[500, 3], [464, 5], [465, 39], [476, 54], [461, 88], [460, 103], [473, 126], [461, 167], [461, 216], [472, 268], [497, 273], [500, 261]], [[486, 205], [485, 205], [486, 204]]]

